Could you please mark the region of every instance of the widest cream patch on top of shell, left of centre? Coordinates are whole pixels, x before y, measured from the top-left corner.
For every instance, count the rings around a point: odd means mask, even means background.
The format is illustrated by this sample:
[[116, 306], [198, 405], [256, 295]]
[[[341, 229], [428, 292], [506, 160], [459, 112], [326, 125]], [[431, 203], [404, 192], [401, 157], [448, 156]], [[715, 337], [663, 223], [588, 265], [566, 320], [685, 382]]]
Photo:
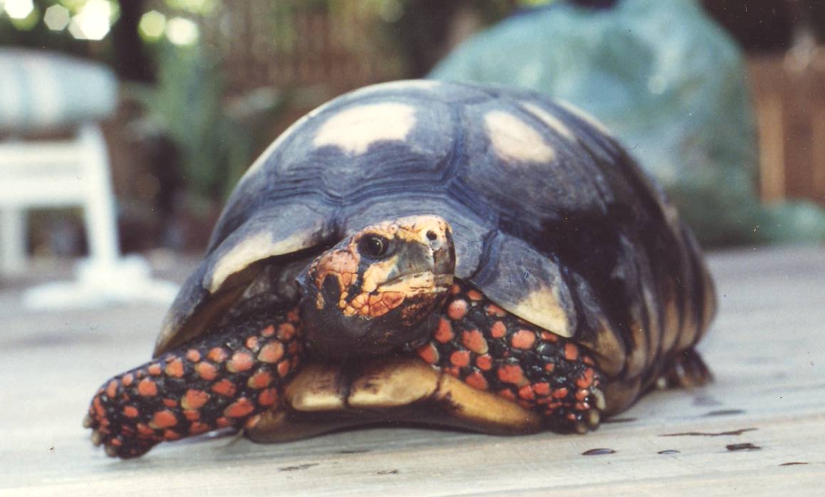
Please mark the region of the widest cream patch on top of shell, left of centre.
[[315, 134], [314, 145], [333, 145], [360, 155], [375, 142], [403, 140], [416, 123], [415, 108], [398, 103], [359, 105], [332, 115]]

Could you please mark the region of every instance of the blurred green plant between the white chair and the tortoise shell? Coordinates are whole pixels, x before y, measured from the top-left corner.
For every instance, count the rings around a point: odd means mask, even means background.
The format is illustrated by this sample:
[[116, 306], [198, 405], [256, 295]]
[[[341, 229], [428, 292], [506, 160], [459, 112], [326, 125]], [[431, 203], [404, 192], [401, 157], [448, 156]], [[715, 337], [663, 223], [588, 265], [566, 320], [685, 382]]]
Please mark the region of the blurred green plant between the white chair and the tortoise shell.
[[177, 149], [177, 168], [195, 213], [229, 194], [252, 162], [261, 115], [271, 120], [283, 102], [272, 91], [226, 101], [218, 63], [197, 47], [164, 46], [156, 85], [132, 91], [144, 104], [146, 132], [164, 134]]

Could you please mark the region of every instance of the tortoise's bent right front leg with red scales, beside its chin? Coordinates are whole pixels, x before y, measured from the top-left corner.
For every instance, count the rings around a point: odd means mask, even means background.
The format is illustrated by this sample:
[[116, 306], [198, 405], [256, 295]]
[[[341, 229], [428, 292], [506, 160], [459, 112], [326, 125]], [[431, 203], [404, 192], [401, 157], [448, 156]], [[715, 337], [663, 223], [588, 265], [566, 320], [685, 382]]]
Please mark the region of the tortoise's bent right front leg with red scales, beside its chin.
[[595, 429], [605, 408], [601, 374], [585, 349], [513, 316], [461, 281], [417, 354], [472, 387], [538, 411], [554, 431]]

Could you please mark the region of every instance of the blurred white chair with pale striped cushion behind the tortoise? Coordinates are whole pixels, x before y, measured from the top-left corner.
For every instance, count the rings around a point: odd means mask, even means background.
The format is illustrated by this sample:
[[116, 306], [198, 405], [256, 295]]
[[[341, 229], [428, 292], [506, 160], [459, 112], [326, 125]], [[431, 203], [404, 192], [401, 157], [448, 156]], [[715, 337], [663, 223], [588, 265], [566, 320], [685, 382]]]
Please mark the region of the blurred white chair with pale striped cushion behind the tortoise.
[[[115, 95], [114, 77], [100, 66], [40, 52], [0, 51], [0, 129], [13, 137], [0, 141], [0, 271], [26, 269], [31, 209], [80, 207], [89, 247], [76, 281], [31, 288], [23, 296], [27, 306], [167, 303], [177, 293], [176, 285], [150, 279], [142, 258], [120, 257], [106, 142], [92, 120], [111, 112]], [[61, 103], [67, 99], [73, 107]], [[87, 105], [78, 108], [78, 101]], [[73, 138], [16, 138], [54, 126], [75, 129]]]

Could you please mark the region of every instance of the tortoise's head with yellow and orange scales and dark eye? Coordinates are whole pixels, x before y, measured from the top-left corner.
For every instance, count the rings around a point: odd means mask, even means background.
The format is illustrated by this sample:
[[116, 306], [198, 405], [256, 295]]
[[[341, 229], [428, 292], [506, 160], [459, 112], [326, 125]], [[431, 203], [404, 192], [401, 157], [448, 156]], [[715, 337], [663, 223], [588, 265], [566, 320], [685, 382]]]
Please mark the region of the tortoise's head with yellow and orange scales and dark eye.
[[346, 359], [425, 340], [454, 271], [450, 227], [442, 218], [414, 216], [365, 227], [299, 276], [309, 349], [324, 359]]

